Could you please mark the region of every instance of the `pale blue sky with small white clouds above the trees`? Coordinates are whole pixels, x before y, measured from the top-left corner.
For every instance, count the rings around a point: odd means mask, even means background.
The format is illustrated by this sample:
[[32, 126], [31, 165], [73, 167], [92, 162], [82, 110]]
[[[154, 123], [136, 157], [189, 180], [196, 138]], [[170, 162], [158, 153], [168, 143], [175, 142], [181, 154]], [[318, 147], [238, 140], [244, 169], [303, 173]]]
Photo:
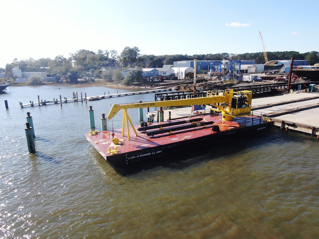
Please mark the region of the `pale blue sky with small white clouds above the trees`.
[[[319, 51], [317, 0], [15, 0], [0, 2], [0, 67], [138, 47], [140, 54]], [[279, 59], [278, 59], [279, 60]]]

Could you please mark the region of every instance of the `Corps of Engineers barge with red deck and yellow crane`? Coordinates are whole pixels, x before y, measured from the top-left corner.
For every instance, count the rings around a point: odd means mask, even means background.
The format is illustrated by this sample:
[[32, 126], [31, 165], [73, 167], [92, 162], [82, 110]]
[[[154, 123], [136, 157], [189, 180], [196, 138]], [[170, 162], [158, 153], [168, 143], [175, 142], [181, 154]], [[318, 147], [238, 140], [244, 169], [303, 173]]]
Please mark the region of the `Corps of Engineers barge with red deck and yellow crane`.
[[[122, 109], [122, 128], [91, 131], [85, 137], [107, 161], [123, 167], [188, 151], [200, 154], [204, 147], [213, 147], [221, 141], [269, 130], [272, 120], [261, 113], [251, 114], [251, 97], [251, 91], [225, 90], [210, 91], [200, 98], [113, 105], [107, 118], [112, 119]], [[213, 108], [209, 114], [151, 125], [142, 122], [141, 126], [133, 126], [127, 112], [130, 108], [182, 105], [211, 105]]]

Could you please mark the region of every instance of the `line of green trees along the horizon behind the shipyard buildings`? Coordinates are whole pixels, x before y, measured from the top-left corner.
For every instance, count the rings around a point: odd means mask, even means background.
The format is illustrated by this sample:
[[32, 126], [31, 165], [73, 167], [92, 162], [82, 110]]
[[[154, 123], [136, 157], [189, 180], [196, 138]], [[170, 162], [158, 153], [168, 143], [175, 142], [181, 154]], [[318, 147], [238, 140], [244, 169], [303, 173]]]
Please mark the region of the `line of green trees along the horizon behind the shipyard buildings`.
[[[267, 52], [268, 60], [307, 60], [308, 65], [319, 63], [318, 52], [312, 51], [299, 53], [296, 51]], [[98, 50], [97, 53], [89, 50], [78, 50], [70, 54], [68, 58], [57, 55], [54, 59], [32, 58], [18, 60], [6, 64], [6, 78], [13, 78], [12, 68], [19, 68], [22, 72], [46, 71], [48, 76], [55, 76], [56, 80], [65, 79], [68, 82], [77, 83], [83, 76], [103, 77], [105, 80], [120, 82], [121, 71], [129, 68], [161, 68], [163, 65], [173, 65], [175, 61], [222, 61], [222, 60], [255, 60], [256, 64], [264, 64], [263, 52], [244, 53], [232, 55], [228, 53], [195, 54], [195, 55], [146, 55], [140, 54], [138, 47], [125, 47], [118, 54], [116, 50]], [[102, 67], [118, 67], [118, 70], [107, 71], [102, 75]]]

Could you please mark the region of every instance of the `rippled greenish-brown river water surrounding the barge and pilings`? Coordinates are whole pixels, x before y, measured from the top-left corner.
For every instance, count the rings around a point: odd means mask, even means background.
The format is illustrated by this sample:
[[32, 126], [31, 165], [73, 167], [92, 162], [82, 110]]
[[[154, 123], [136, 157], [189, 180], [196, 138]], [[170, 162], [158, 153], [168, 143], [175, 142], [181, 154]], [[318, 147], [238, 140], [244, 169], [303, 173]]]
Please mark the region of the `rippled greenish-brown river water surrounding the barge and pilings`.
[[[9, 111], [0, 109], [5, 122], [0, 126], [5, 132], [0, 140], [0, 238], [319, 235], [318, 141], [308, 135], [274, 128], [260, 137], [212, 142], [190, 158], [119, 170], [85, 140], [90, 131], [87, 104], [21, 109], [21, 100], [58, 96], [54, 89], [16, 88], [5, 95]], [[111, 91], [84, 90], [90, 95]], [[61, 88], [58, 94], [71, 91]], [[92, 105], [101, 115], [109, 105], [127, 100]], [[37, 154], [28, 153], [26, 145], [29, 110]], [[98, 120], [96, 125], [100, 127]]]

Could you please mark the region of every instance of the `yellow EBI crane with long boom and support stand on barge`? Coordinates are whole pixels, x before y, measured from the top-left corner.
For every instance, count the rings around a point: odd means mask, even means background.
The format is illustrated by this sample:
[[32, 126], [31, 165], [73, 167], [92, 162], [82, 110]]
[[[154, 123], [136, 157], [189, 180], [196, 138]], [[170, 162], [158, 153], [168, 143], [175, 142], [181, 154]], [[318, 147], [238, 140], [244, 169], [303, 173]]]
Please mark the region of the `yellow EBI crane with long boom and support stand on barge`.
[[[231, 121], [233, 117], [250, 115], [252, 91], [234, 91], [232, 89], [224, 91], [208, 91], [206, 97], [177, 99], [167, 101], [153, 101], [130, 104], [114, 104], [108, 113], [108, 120], [112, 119], [117, 112], [123, 110], [122, 135], [124, 136], [124, 127], [126, 122], [128, 139], [130, 140], [130, 131], [128, 121], [130, 122], [135, 135], [137, 132], [130, 120], [127, 109], [147, 108], [147, 107], [167, 107], [184, 105], [212, 105], [222, 112], [222, 119]], [[219, 105], [217, 105], [220, 103]]]

